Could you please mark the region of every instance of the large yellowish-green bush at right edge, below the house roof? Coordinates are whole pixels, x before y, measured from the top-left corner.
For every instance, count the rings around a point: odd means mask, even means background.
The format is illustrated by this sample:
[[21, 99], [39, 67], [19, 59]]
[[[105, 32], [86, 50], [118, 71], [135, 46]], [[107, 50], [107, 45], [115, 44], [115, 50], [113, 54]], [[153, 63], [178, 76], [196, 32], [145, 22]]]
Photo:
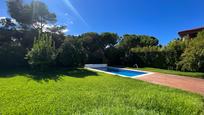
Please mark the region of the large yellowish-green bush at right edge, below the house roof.
[[181, 56], [177, 68], [182, 71], [204, 72], [204, 31], [200, 32]]

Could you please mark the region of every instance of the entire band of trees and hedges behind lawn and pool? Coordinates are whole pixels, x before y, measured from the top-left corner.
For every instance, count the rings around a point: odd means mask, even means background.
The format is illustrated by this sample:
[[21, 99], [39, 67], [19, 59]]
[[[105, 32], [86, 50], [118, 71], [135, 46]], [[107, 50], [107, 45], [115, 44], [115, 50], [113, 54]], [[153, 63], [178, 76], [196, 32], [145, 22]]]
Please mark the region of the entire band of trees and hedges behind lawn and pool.
[[3, 67], [108, 63], [204, 71], [203, 32], [193, 40], [178, 38], [163, 47], [157, 38], [148, 35], [87, 32], [72, 36], [63, 33], [66, 26], [53, 25], [56, 15], [42, 1], [9, 0], [7, 5], [11, 18], [0, 18], [0, 64]]

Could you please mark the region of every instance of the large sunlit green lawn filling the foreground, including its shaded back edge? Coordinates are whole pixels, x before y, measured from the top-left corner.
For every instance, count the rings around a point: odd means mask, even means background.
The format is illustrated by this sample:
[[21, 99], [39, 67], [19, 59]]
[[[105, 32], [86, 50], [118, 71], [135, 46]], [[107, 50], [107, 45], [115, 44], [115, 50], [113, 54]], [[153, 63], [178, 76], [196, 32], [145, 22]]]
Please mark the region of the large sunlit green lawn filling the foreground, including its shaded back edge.
[[85, 69], [0, 71], [0, 114], [201, 115], [204, 97]]

